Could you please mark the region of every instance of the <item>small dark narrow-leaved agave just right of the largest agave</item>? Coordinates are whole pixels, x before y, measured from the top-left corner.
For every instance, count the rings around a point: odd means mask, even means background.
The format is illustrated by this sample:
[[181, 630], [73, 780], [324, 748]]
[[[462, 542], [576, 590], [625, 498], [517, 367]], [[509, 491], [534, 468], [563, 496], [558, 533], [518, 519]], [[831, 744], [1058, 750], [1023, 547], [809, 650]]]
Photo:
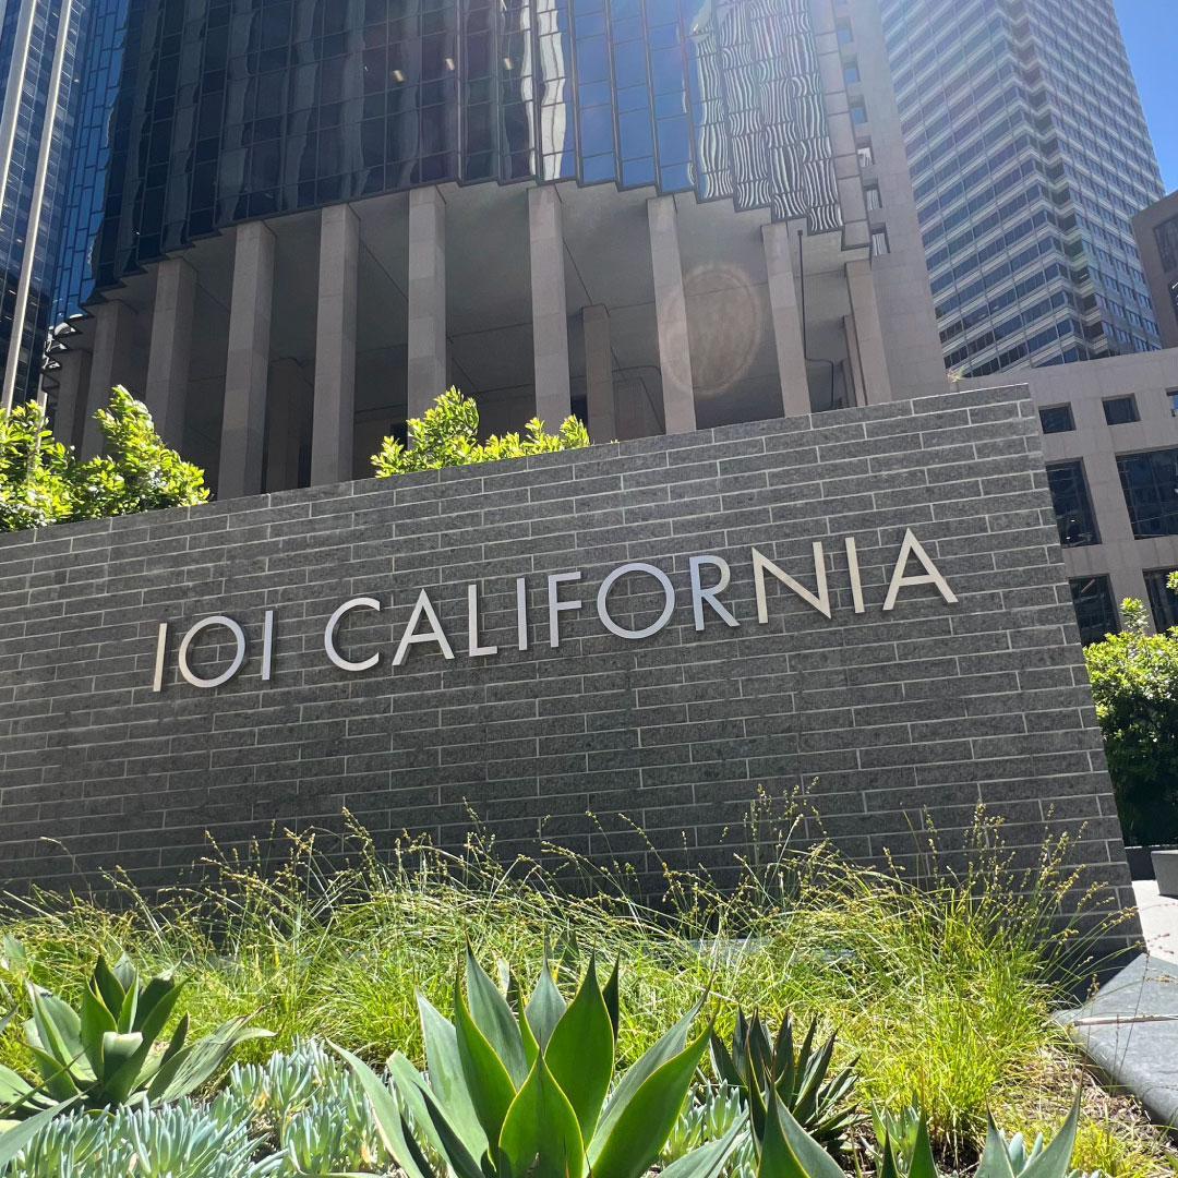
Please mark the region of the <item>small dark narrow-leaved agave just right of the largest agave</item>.
[[732, 1048], [715, 1032], [710, 1039], [712, 1067], [721, 1083], [737, 1088], [749, 1105], [754, 1127], [760, 1132], [766, 1099], [772, 1086], [777, 1099], [810, 1137], [836, 1158], [846, 1149], [847, 1131], [860, 1121], [851, 1104], [855, 1087], [853, 1066], [830, 1077], [835, 1035], [815, 1048], [818, 1019], [794, 1047], [793, 1018], [786, 1012], [776, 1043], [760, 1014], [744, 1018], [736, 1012]]

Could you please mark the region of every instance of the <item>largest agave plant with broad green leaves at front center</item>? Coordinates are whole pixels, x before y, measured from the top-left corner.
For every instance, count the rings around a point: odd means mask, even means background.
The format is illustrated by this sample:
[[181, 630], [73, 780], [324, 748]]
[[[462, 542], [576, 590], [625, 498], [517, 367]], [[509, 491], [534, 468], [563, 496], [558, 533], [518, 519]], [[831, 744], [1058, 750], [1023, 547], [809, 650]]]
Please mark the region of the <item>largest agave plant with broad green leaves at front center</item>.
[[[650, 1047], [610, 1092], [617, 1048], [617, 968], [598, 985], [588, 969], [570, 1002], [545, 953], [517, 1012], [466, 951], [466, 993], [455, 986], [454, 1023], [418, 995], [428, 1077], [399, 1052], [392, 1090], [342, 1048], [372, 1106], [377, 1130], [409, 1178], [641, 1178], [657, 1160], [708, 1040], [689, 1039], [701, 1004]], [[511, 986], [510, 990], [515, 990]], [[741, 1125], [669, 1166], [670, 1178], [719, 1172]]]

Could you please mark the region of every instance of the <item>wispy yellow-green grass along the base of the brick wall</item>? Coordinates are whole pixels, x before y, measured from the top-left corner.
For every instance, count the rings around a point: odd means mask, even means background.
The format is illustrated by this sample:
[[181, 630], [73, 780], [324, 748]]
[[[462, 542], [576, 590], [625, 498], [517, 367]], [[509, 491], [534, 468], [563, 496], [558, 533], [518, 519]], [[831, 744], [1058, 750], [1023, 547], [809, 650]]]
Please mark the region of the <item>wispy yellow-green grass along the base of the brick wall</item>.
[[[196, 1033], [258, 1011], [277, 1034], [266, 1050], [318, 1037], [371, 1061], [399, 1048], [421, 1064], [415, 990], [448, 1008], [468, 941], [492, 973], [510, 962], [535, 975], [547, 938], [570, 981], [590, 948], [621, 958], [623, 1065], [679, 1018], [684, 995], [710, 987], [723, 1034], [737, 1007], [774, 1025], [786, 1011], [816, 1015], [838, 1032], [841, 1061], [858, 1057], [861, 1097], [899, 1107], [915, 1096], [962, 1164], [984, 1140], [987, 1105], [1011, 1124], [1063, 1116], [1059, 1078], [1074, 1059], [1050, 1013], [1119, 915], [1084, 894], [1066, 838], [1017, 869], [1001, 823], [979, 813], [952, 859], [920, 832], [921, 868], [905, 873], [851, 863], [827, 842], [799, 846], [796, 822], [787, 813], [766, 826], [762, 812], [729, 886], [664, 868], [655, 900], [622, 865], [555, 847], [510, 863], [478, 836], [461, 854], [409, 838], [378, 853], [353, 826], [340, 866], [315, 835], [291, 835], [277, 865], [217, 855], [204, 882], [166, 896], [114, 880], [106, 900], [8, 900], [0, 926], [24, 953], [0, 959], [0, 981], [14, 1000], [26, 977], [73, 997], [99, 951], [124, 951], [140, 969], [188, 979]], [[1078, 900], [1083, 926], [1064, 915]], [[0, 1060], [21, 1051], [9, 1028]]]

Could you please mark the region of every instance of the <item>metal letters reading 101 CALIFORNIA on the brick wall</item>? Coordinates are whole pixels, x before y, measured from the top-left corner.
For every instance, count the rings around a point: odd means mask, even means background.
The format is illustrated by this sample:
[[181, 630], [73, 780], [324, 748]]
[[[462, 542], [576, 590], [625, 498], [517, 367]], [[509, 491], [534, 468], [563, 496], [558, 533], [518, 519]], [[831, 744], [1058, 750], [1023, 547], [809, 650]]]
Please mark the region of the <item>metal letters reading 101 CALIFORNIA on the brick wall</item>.
[[[822, 542], [815, 541], [812, 550], [815, 589], [813, 593], [799, 581], [795, 581], [794, 577], [785, 571], [785, 569], [770, 561], [769, 557], [759, 549], [750, 548], [748, 550], [749, 564], [753, 570], [753, 584], [756, 595], [757, 622], [761, 626], [767, 626], [769, 623], [769, 596], [767, 581], [770, 575], [792, 593], [796, 594], [807, 605], [815, 609], [823, 617], [829, 618], [832, 616], [833, 605], [830, 587], [826, 567], [826, 551]], [[867, 605], [863, 601], [862, 573], [859, 565], [859, 550], [855, 545], [854, 538], [847, 538], [846, 555], [847, 574], [851, 581], [851, 603], [856, 614], [865, 614], [867, 611]], [[909, 575], [908, 564], [913, 560], [920, 564], [921, 571]], [[693, 556], [688, 562], [688, 568], [691, 588], [691, 621], [695, 630], [697, 633], [702, 633], [707, 617], [710, 615], [714, 615], [715, 618], [719, 618], [730, 629], [739, 628], [741, 626], [740, 620], [733, 613], [732, 608], [721, 600], [721, 594], [723, 594], [732, 584], [732, 567], [728, 561], [722, 556], [714, 555]], [[709, 573], [707, 575], [709, 582], [714, 582], [713, 584], [704, 585], [704, 574], [702, 571], [704, 569], [715, 570], [714, 573]], [[622, 580], [622, 577], [630, 575], [650, 577], [657, 584], [659, 589], [662, 590], [663, 604], [659, 616], [650, 622], [650, 624], [638, 629], [629, 629], [620, 624], [610, 613], [610, 591], [617, 582]], [[517, 577], [515, 581], [516, 648], [519, 650], [527, 650], [529, 642], [530, 618], [528, 580], [528, 577]], [[574, 584], [583, 580], [584, 574], [574, 570], [569, 573], [548, 574], [548, 576], [541, 582], [544, 588], [543, 600], [547, 602], [548, 607], [549, 646], [551, 646], [552, 649], [558, 649], [561, 646], [561, 615], [574, 614], [581, 610], [584, 605], [584, 602], [580, 598], [562, 598], [561, 587]], [[900, 547], [900, 554], [896, 557], [895, 565], [888, 581], [887, 596], [881, 607], [882, 613], [888, 614], [895, 609], [896, 601], [899, 600], [900, 591], [902, 589], [914, 588], [916, 585], [932, 585], [940, 594], [946, 604], [958, 604], [957, 595], [949, 588], [948, 582], [933, 563], [932, 557], [925, 550], [924, 545], [919, 540], [916, 540], [912, 529], [908, 529], [905, 532], [904, 543]], [[491, 659], [498, 655], [502, 649], [497, 642], [489, 641], [490, 635], [484, 633], [483, 620], [481, 617], [482, 591], [482, 585], [478, 582], [466, 585], [465, 654], [470, 659]], [[670, 576], [668, 576], [668, 574], [657, 565], [648, 564], [641, 561], [620, 564], [617, 568], [608, 573], [597, 587], [597, 621], [610, 634], [616, 637], [624, 638], [627, 642], [638, 642], [643, 638], [653, 637], [664, 630], [670, 624], [671, 617], [674, 616], [676, 608], [679, 608], [679, 597]], [[707, 607], [707, 610], [704, 607]], [[339, 605], [327, 618], [323, 631], [323, 648], [326, 653], [327, 660], [350, 675], [371, 671], [379, 667], [382, 660], [380, 650], [373, 650], [366, 659], [353, 662], [345, 659], [339, 653], [337, 638], [348, 616], [353, 610], [371, 609], [379, 613], [383, 608], [384, 605], [379, 598], [370, 596], [351, 597]], [[615, 594], [614, 609], [617, 610], [618, 608], [617, 595]], [[269, 682], [274, 671], [274, 613], [276, 611], [273, 609], [267, 609], [263, 621], [263, 682]], [[193, 673], [190, 662], [190, 651], [193, 642], [201, 634], [204, 634], [205, 630], [214, 627], [224, 627], [233, 636], [233, 659], [230, 662], [230, 666], [219, 675], [205, 679]], [[160, 623], [155, 643], [155, 659], [153, 663], [152, 688], [154, 691], [164, 690], [170, 633], [170, 623]], [[446, 636], [445, 629], [442, 626], [442, 618], [438, 616], [437, 609], [425, 589], [422, 589], [418, 593], [412, 614], [402, 630], [399, 641], [397, 642], [396, 653], [392, 656], [392, 666], [395, 668], [404, 666], [410, 656], [411, 648], [421, 646], [436, 647], [436, 653], [441, 654], [446, 661], [454, 661], [455, 659], [454, 647], [451, 646], [450, 638]], [[508, 647], [507, 649], [511, 648]], [[227, 683], [231, 679], [233, 679], [245, 666], [247, 642], [245, 630], [238, 622], [233, 621], [233, 618], [217, 614], [213, 617], [206, 617], [196, 622], [187, 630], [187, 633], [185, 633], [180, 642], [178, 668], [180, 676], [185, 680], [185, 682], [191, 683], [193, 687], [207, 690], [220, 687], [223, 683]]]

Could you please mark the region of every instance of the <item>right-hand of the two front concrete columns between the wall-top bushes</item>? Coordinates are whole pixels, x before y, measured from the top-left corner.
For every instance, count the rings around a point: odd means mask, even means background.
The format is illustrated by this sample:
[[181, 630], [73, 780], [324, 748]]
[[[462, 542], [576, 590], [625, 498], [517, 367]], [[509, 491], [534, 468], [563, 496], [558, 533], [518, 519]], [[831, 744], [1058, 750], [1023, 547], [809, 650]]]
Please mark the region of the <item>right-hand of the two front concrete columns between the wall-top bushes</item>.
[[356, 431], [356, 302], [360, 223], [350, 205], [323, 210], [315, 333], [311, 485], [352, 477]]

